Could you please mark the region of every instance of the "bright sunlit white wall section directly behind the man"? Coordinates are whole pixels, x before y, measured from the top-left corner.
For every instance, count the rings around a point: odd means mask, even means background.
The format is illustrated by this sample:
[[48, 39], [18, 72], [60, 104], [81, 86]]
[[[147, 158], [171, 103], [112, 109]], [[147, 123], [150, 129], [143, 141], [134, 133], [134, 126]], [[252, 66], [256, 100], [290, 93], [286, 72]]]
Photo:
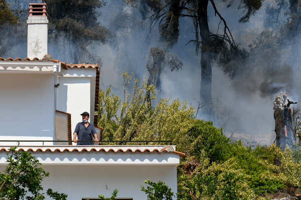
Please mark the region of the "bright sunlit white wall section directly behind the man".
[[[90, 112], [90, 77], [60, 77], [58, 110], [71, 114], [71, 130], [82, 120], [81, 113]], [[90, 113], [91, 115], [91, 113]]]

